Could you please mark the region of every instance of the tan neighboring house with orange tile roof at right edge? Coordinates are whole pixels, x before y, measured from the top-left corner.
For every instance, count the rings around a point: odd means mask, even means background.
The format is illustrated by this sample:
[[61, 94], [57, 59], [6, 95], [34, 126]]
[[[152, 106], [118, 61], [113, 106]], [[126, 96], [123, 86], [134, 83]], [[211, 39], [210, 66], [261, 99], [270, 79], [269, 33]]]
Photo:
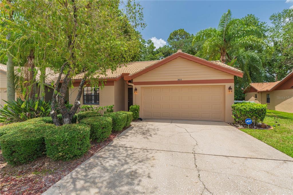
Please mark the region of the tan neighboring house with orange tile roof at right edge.
[[270, 110], [293, 113], [293, 72], [277, 82], [250, 83], [243, 93], [246, 101], [267, 104]]

